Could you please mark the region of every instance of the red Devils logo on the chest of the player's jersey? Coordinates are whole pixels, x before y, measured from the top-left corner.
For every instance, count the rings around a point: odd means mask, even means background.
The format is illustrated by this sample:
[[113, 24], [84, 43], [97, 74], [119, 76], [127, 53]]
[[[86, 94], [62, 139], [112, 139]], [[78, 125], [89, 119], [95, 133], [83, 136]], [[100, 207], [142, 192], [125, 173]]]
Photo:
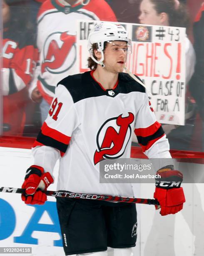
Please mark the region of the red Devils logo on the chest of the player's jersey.
[[130, 124], [134, 121], [134, 115], [119, 115], [110, 118], [101, 126], [97, 133], [98, 150], [94, 154], [94, 164], [104, 159], [116, 159], [124, 154], [127, 143], [131, 137]]

